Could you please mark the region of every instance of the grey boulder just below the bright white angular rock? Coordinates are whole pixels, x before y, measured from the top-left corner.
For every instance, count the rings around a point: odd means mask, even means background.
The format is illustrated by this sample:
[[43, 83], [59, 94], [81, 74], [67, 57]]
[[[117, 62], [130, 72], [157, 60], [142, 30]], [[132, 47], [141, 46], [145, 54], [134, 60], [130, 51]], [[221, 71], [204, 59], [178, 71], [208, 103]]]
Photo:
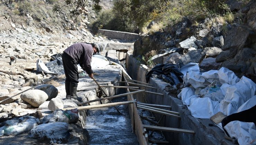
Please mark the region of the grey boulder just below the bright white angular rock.
[[185, 54], [180, 60], [180, 67], [183, 67], [190, 62], [200, 63], [200, 61], [204, 58], [206, 52], [203, 49], [191, 50], [188, 54]]

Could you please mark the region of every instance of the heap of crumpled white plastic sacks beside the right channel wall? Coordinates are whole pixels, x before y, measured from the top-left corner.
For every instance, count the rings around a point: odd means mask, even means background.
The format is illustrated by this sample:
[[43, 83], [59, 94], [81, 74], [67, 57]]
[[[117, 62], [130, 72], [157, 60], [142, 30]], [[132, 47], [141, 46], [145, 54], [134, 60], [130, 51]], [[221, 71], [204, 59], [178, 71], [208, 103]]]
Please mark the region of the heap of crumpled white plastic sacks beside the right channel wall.
[[[210, 118], [218, 112], [228, 116], [256, 105], [256, 84], [245, 76], [239, 79], [225, 67], [201, 73], [198, 64], [190, 63], [181, 72], [189, 87], [183, 88], [178, 98], [196, 118]], [[217, 126], [222, 129], [221, 123]], [[224, 128], [240, 145], [256, 144], [254, 123], [232, 121]]]

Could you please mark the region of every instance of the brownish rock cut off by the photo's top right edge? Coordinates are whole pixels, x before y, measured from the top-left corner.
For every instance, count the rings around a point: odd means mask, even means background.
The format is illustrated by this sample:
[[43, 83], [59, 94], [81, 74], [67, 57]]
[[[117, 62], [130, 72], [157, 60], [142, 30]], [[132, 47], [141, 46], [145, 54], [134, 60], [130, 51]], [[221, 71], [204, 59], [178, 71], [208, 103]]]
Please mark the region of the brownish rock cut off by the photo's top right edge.
[[247, 13], [247, 25], [256, 32], [256, 3], [252, 4]]

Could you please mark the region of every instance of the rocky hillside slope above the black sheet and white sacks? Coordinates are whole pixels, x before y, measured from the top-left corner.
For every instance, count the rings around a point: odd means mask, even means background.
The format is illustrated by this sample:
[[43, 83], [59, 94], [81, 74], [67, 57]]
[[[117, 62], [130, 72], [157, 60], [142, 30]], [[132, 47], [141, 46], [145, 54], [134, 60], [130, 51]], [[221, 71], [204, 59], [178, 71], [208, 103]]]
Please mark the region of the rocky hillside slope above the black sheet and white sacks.
[[163, 32], [140, 36], [134, 48], [138, 60], [156, 50], [158, 55], [148, 62], [180, 67], [196, 62], [202, 71], [226, 67], [256, 82], [256, 1], [240, 9], [233, 21], [211, 17], [193, 23], [184, 17]]

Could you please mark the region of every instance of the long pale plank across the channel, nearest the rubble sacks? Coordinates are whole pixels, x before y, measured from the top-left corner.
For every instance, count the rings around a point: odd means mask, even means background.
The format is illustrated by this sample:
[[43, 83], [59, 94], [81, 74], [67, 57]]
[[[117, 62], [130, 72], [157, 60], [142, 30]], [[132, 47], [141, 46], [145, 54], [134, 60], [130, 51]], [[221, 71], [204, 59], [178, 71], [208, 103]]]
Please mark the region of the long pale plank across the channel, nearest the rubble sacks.
[[82, 106], [82, 107], [71, 107], [71, 108], [64, 108], [62, 110], [71, 110], [77, 108], [78, 110], [86, 110], [86, 109], [93, 109], [93, 108], [103, 108], [103, 107], [111, 107], [111, 106], [118, 106], [118, 105], [126, 105], [130, 103], [134, 103], [135, 101], [123, 101], [123, 102], [116, 102], [116, 103], [108, 103], [108, 104], [99, 104], [99, 105], [90, 105], [90, 106]]

